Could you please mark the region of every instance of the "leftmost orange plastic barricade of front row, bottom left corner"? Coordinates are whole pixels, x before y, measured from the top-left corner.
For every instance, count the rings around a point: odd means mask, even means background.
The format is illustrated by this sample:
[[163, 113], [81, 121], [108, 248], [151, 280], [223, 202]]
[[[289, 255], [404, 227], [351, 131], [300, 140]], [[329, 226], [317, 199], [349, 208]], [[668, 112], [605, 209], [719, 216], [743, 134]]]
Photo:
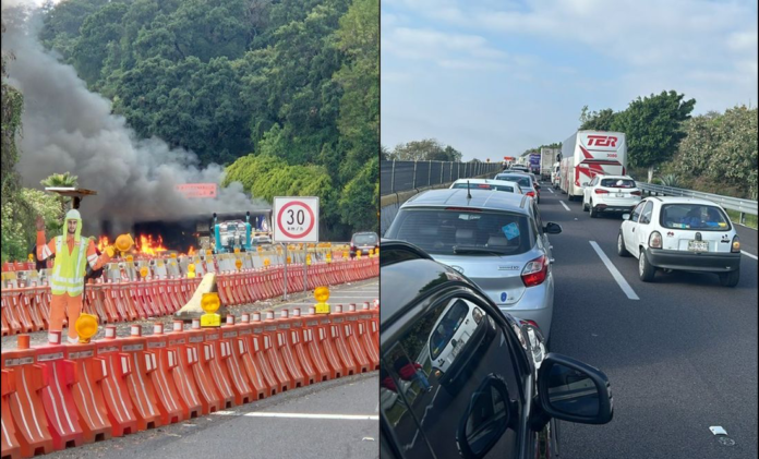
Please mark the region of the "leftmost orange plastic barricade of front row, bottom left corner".
[[[28, 338], [24, 346], [21, 338], [19, 345], [26, 349], [2, 351], [2, 378], [8, 378], [5, 383], [15, 388], [8, 394], [10, 407], [3, 398], [2, 419], [9, 424], [13, 421], [21, 456], [28, 458], [52, 452], [55, 448], [41, 395], [48, 386], [47, 372], [36, 363], [37, 351], [28, 349]], [[5, 416], [8, 408], [10, 415]]]

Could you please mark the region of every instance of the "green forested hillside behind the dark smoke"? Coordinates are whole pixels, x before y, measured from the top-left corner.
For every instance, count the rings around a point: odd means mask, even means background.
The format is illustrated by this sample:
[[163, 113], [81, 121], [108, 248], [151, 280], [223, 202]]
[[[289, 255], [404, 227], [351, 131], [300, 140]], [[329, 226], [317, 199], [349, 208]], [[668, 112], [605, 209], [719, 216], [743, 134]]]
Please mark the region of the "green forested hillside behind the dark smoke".
[[[40, 38], [142, 137], [376, 228], [377, 0], [67, 0]], [[234, 162], [234, 161], [238, 162]], [[265, 185], [264, 185], [265, 184]]]

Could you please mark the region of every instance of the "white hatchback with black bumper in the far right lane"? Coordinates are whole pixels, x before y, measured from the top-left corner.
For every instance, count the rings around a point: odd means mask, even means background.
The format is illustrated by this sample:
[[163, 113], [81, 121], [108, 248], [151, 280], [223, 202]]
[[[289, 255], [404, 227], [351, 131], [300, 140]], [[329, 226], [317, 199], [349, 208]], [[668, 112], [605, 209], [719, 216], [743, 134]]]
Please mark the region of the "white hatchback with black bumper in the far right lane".
[[650, 196], [625, 220], [617, 235], [617, 254], [638, 258], [644, 282], [656, 269], [715, 273], [724, 287], [740, 276], [740, 241], [725, 210], [711, 201]]

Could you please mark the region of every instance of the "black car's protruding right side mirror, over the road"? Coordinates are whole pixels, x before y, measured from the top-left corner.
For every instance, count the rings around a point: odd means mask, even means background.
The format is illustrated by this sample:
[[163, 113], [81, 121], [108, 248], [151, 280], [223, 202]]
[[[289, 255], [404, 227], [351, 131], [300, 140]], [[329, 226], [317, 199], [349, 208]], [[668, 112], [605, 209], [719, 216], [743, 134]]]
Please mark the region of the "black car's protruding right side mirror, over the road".
[[606, 375], [578, 360], [549, 353], [538, 371], [540, 408], [551, 418], [606, 424], [614, 415]]

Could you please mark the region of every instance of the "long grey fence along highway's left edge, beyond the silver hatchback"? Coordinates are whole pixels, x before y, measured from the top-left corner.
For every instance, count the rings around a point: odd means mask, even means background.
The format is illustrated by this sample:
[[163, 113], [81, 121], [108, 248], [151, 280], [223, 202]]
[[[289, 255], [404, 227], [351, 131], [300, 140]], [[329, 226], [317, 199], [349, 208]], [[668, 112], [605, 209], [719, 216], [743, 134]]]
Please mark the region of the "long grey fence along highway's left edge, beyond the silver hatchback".
[[380, 194], [450, 183], [501, 169], [501, 162], [381, 161]]

